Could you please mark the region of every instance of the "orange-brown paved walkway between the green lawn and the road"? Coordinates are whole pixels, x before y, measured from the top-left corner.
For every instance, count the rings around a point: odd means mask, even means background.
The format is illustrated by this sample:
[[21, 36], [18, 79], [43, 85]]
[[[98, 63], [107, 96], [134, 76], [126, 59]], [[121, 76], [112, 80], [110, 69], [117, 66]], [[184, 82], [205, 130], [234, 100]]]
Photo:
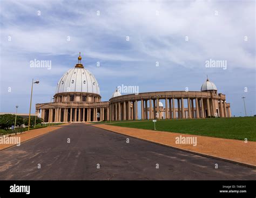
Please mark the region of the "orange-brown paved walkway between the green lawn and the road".
[[[211, 155], [217, 158], [223, 158], [256, 166], [256, 142], [252, 141], [245, 143], [241, 140], [212, 138], [208, 136], [170, 133], [104, 124], [93, 126], [120, 134], [129, 135], [135, 138], [156, 142], [158, 144], [184, 149], [186, 151], [197, 152], [204, 155]], [[180, 135], [182, 137], [197, 137], [197, 146], [176, 144], [176, 137], [179, 137]]]

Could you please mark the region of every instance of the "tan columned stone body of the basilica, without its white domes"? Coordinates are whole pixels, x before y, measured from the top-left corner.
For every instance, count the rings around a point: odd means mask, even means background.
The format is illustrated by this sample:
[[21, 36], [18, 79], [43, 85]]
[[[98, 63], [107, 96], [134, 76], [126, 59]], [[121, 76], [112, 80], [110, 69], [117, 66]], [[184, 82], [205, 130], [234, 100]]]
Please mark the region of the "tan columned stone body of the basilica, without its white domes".
[[53, 103], [36, 104], [36, 113], [44, 122], [231, 117], [226, 96], [212, 91], [147, 92], [104, 102], [97, 94], [58, 93]]

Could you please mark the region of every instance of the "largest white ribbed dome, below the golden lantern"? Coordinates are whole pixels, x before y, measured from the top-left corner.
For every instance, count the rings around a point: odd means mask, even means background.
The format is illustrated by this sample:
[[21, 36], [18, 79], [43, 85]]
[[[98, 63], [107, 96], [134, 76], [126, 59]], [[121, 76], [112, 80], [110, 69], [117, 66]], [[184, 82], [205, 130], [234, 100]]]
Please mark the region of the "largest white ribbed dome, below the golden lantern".
[[99, 92], [99, 84], [93, 74], [82, 67], [75, 67], [64, 73], [60, 78], [56, 93], [63, 92], [86, 92], [96, 93]]

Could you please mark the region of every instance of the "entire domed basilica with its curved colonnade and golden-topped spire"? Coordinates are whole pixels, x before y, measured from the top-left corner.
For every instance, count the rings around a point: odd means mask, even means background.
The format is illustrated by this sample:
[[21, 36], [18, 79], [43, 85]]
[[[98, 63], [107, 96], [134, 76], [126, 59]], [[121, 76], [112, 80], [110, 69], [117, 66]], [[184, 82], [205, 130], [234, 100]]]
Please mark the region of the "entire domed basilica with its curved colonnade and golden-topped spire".
[[231, 117], [226, 95], [208, 78], [200, 91], [161, 91], [122, 95], [116, 89], [102, 101], [99, 84], [78, 63], [60, 78], [52, 103], [36, 104], [44, 122], [92, 122], [149, 119], [197, 119]]

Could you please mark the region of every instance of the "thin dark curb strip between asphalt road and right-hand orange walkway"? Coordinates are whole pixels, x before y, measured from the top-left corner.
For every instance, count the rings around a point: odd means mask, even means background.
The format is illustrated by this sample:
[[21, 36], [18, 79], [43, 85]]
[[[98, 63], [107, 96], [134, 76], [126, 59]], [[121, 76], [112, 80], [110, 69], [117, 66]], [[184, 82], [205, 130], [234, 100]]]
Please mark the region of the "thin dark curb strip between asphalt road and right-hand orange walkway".
[[[96, 125], [96, 126], [95, 126], [95, 125], [91, 125], [91, 126], [97, 127], [97, 125]], [[97, 128], [100, 128], [100, 127], [97, 127]], [[217, 159], [217, 160], [221, 160], [221, 161], [231, 162], [231, 163], [235, 163], [235, 164], [238, 164], [238, 165], [247, 166], [247, 167], [256, 169], [256, 166], [255, 166], [255, 165], [251, 165], [250, 163], [244, 163], [244, 162], [234, 161], [234, 160], [230, 160], [230, 159], [226, 159], [226, 158], [220, 158], [220, 157], [213, 156], [213, 155], [207, 155], [207, 154], [204, 154], [204, 153], [198, 153], [198, 152], [194, 152], [194, 151], [188, 151], [188, 150], [186, 150], [186, 149], [184, 149], [184, 148], [169, 146], [169, 145], [161, 144], [161, 143], [158, 143], [158, 142], [154, 142], [154, 141], [150, 141], [150, 140], [145, 140], [145, 139], [142, 139], [142, 138], [137, 138], [136, 136], [131, 136], [131, 135], [127, 135], [127, 134], [123, 134], [123, 133], [111, 131], [110, 129], [105, 129], [105, 128], [101, 128], [101, 129], [104, 129], [104, 130], [106, 130], [106, 131], [110, 131], [110, 132], [112, 132], [112, 133], [117, 133], [117, 134], [126, 135], [126, 136], [129, 136], [129, 137], [131, 137], [131, 138], [136, 138], [136, 139], [138, 139], [138, 140], [143, 140], [143, 141], [146, 141], [146, 142], [151, 142], [151, 143], [156, 144], [156, 145], [165, 146], [165, 147], [171, 147], [171, 148], [177, 149], [177, 150], [179, 150], [179, 151], [184, 151], [184, 152], [187, 152], [187, 153], [192, 153], [192, 154], [195, 154], [195, 155], [204, 156], [204, 157], [206, 157], [206, 158], [212, 158], [212, 159]]]

